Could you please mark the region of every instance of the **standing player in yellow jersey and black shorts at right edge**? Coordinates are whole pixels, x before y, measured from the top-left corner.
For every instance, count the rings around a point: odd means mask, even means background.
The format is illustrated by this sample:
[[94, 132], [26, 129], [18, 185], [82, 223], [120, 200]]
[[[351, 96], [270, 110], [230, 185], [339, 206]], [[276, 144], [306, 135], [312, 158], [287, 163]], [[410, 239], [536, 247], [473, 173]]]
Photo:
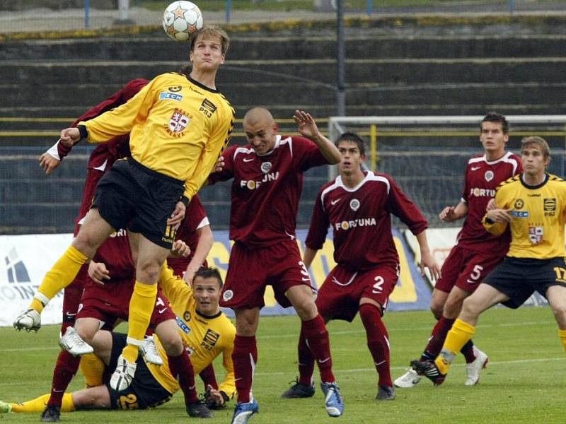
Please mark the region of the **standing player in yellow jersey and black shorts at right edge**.
[[437, 360], [422, 363], [420, 371], [435, 385], [444, 382], [456, 352], [475, 333], [483, 311], [497, 303], [515, 309], [534, 291], [548, 299], [566, 350], [566, 182], [546, 172], [550, 148], [541, 137], [523, 139], [521, 162], [524, 172], [499, 185], [497, 208], [483, 218], [485, 229], [492, 234], [500, 235], [509, 228], [509, 252], [464, 300]]

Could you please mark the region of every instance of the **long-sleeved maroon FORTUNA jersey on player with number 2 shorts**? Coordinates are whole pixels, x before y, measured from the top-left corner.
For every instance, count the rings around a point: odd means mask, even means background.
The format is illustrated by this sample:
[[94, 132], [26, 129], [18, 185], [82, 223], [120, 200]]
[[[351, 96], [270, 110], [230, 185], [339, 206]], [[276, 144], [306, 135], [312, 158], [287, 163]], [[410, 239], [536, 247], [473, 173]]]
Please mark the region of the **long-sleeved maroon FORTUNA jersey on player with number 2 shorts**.
[[338, 176], [318, 193], [305, 244], [323, 247], [328, 226], [334, 232], [334, 260], [353, 271], [399, 262], [391, 234], [391, 213], [398, 216], [413, 234], [427, 229], [427, 220], [385, 174], [366, 172], [354, 189]]

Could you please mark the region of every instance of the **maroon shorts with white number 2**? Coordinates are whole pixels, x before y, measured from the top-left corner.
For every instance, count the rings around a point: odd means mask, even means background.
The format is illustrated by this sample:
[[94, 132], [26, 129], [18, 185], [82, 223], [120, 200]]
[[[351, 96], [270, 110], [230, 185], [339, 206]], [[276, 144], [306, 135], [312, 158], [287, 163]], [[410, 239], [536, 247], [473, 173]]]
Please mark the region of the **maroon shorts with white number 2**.
[[368, 298], [378, 302], [384, 313], [398, 278], [398, 269], [391, 265], [358, 272], [337, 265], [318, 290], [318, 312], [324, 319], [352, 322], [359, 310], [359, 300]]

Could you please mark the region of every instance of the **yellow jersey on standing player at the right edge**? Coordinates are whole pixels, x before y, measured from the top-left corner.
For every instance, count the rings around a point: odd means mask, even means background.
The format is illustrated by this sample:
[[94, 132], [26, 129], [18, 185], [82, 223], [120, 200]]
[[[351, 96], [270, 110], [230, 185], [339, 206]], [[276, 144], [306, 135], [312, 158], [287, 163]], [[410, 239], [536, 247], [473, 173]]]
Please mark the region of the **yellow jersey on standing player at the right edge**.
[[[521, 174], [522, 175], [522, 174]], [[551, 174], [538, 186], [529, 186], [521, 175], [507, 179], [497, 187], [498, 208], [511, 209], [511, 245], [508, 257], [550, 259], [566, 257], [564, 225], [566, 222], [566, 182]], [[507, 223], [487, 223], [485, 230], [499, 235]]]

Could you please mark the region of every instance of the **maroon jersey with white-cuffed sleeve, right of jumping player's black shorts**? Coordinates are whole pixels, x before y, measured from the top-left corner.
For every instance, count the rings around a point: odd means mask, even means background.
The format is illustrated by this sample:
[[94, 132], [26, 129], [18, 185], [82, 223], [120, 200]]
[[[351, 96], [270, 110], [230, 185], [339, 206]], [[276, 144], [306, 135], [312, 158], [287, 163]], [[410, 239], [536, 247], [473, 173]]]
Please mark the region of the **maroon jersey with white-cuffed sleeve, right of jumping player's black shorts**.
[[[197, 230], [205, 225], [210, 225], [207, 213], [204, 211], [199, 196], [195, 194], [195, 196], [192, 196], [192, 199], [190, 199], [190, 204], [185, 211], [185, 218], [177, 230], [177, 235], [175, 235], [175, 239], [183, 240], [183, 242], [189, 245], [190, 254], [186, 258], [167, 258], [167, 264], [173, 268], [175, 275], [181, 276], [187, 269], [187, 265], [194, 256], [199, 242]], [[206, 266], [206, 261], [204, 261], [204, 266]]]

